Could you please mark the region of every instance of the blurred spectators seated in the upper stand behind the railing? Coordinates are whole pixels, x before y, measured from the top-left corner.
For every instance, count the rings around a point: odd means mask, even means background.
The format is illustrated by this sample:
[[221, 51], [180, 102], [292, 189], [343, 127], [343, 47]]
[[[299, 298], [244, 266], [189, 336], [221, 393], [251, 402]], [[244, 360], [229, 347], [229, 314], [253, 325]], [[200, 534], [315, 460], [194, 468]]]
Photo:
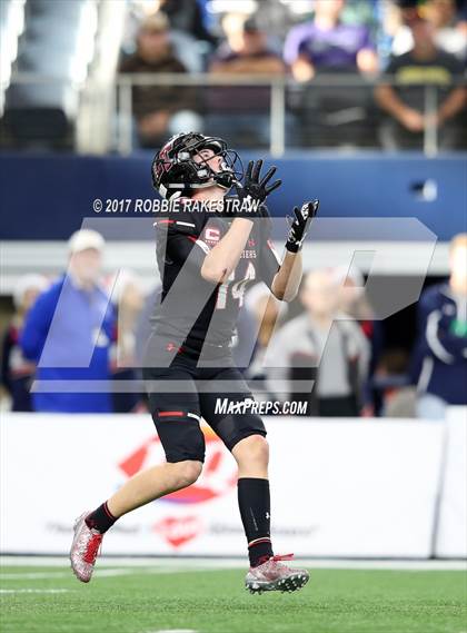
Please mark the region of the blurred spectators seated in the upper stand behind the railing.
[[122, 73], [205, 71], [228, 82], [135, 86], [137, 147], [187, 129], [266, 146], [275, 78], [290, 79], [287, 146], [421, 149], [427, 127], [440, 148], [465, 147], [464, 0], [310, 0], [301, 14], [294, 1], [216, 14], [211, 4], [135, 0]]

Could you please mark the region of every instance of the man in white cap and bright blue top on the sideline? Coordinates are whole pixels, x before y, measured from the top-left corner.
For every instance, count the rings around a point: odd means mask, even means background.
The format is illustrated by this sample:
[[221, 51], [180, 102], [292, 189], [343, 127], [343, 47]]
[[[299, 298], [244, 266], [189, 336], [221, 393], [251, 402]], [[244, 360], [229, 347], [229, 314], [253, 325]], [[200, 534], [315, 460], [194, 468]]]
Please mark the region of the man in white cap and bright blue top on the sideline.
[[[67, 274], [38, 298], [26, 318], [20, 345], [24, 356], [38, 365], [39, 389], [32, 393], [36, 412], [111, 411], [108, 393], [87, 388], [92, 380], [105, 383], [110, 378], [115, 314], [99, 284], [103, 248], [99, 233], [74, 233], [68, 243]], [[54, 382], [53, 393], [48, 393], [48, 380]], [[82, 393], [73, 393], [76, 380], [82, 382]]]

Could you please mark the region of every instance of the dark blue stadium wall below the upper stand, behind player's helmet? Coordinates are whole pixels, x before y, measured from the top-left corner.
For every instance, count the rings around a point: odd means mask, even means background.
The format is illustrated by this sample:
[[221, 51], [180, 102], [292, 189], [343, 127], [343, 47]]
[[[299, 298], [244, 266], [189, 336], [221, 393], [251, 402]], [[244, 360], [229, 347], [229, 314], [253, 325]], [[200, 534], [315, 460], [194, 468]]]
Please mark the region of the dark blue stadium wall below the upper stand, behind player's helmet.
[[[242, 154], [245, 162], [255, 157]], [[271, 197], [270, 210], [285, 216], [294, 204], [319, 197], [320, 217], [418, 218], [446, 241], [466, 230], [466, 159], [465, 154], [428, 159], [418, 154], [336, 158], [319, 152], [268, 159], [284, 180]], [[106, 206], [108, 199], [157, 197], [150, 164], [150, 152], [130, 157], [2, 154], [0, 205], [6, 221], [0, 239], [64, 240], [85, 217], [96, 216], [96, 198]], [[132, 206], [123, 215], [141, 217]], [[344, 230], [341, 239], [347, 238]]]

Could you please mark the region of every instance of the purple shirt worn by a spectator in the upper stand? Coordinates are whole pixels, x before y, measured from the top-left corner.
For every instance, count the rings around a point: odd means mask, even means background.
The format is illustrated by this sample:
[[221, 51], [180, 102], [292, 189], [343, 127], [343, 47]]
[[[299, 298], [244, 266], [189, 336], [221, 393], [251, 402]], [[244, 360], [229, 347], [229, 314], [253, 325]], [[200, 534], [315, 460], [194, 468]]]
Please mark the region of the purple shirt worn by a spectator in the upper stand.
[[338, 23], [324, 30], [314, 22], [291, 29], [286, 39], [284, 58], [291, 65], [299, 55], [306, 56], [317, 68], [357, 68], [357, 53], [374, 49], [369, 31], [357, 24]]

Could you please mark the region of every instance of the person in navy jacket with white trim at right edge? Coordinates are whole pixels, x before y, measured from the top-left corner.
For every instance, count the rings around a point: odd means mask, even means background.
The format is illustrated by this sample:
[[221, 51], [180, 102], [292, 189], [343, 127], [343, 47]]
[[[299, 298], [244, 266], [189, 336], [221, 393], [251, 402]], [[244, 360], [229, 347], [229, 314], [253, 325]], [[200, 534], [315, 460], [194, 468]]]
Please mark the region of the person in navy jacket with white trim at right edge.
[[449, 250], [448, 283], [427, 288], [418, 303], [417, 415], [443, 418], [447, 405], [467, 405], [467, 234]]

